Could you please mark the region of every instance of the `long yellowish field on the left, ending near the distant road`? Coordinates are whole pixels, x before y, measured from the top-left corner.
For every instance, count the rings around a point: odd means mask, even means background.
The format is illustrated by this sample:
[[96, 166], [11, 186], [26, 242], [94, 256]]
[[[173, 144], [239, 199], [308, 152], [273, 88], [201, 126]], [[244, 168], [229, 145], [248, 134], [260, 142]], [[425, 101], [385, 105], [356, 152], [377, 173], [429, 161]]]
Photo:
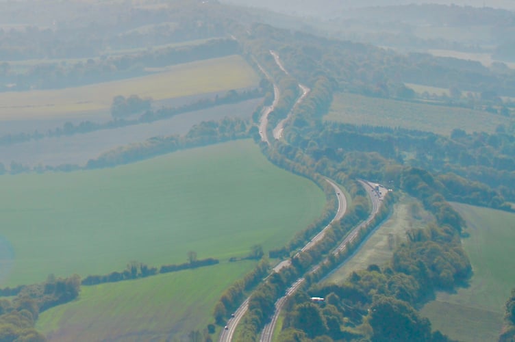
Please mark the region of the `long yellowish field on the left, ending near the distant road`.
[[[175, 98], [255, 86], [259, 77], [239, 55], [179, 64], [162, 73], [62, 90], [0, 94], [0, 120], [55, 118], [108, 109], [116, 95]], [[108, 115], [108, 114], [107, 114]]]

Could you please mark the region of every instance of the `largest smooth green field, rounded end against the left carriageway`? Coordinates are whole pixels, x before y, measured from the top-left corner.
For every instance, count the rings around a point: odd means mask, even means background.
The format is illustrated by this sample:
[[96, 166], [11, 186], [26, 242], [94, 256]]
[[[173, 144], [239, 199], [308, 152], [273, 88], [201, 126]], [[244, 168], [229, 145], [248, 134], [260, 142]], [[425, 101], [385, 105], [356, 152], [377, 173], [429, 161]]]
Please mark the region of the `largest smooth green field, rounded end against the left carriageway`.
[[[251, 140], [103, 170], [0, 176], [0, 286], [283, 246], [325, 205]], [[0, 253], [1, 256], [1, 253]], [[5, 270], [10, 268], [10, 274]]]

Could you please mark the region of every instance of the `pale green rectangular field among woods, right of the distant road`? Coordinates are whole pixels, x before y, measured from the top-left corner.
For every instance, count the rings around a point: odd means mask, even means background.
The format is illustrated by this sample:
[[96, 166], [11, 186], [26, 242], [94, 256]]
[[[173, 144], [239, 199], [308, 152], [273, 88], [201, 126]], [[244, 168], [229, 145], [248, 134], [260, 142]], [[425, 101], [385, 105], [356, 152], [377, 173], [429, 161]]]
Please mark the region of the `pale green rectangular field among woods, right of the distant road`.
[[444, 135], [450, 135], [455, 128], [464, 129], [468, 133], [474, 131], [492, 133], [499, 124], [510, 122], [508, 118], [483, 111], [370, 98], [347, 93], [334, 96], [325, 120], [418, 129]]

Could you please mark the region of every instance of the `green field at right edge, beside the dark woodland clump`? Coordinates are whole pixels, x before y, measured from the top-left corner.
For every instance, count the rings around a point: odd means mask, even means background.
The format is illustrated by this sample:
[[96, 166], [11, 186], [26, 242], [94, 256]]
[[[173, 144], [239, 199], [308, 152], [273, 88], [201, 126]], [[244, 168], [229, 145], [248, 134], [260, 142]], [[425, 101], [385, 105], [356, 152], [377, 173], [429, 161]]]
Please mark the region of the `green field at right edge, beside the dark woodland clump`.
[[468, 224], [470, 237], [462, 243], [474, 273], [468, 287], [438, 293], [420, 313], [451, 338], [497, 341], [504, 304], [515, 287], [515, 214], [456, 203], [453, 207]]

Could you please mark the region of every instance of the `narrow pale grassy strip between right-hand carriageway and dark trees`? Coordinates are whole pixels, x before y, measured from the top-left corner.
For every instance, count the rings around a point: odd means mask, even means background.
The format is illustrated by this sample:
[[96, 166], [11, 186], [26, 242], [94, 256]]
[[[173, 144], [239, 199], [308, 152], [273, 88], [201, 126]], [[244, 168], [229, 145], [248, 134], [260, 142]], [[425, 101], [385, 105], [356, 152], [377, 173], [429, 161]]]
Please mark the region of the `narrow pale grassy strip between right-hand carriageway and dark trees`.
[[[430, 214], [421, 206], [414, 205], [415, 201], [412, 197], [403, 196], [394, 205], [394, 211], [390, 218], [373, 235], [370, 235], [352, 259], [338, 267], [325, 278], [324, 282], [342, 283], [353, 271], [365, 269], [371, 264], [388, 263], [395, 246], [401, 241], [405, 241], [405, 232], [410, 228], [423, 228], [431, 218]], [[413, 209], [414, 207], [417, 209]], [[412, 215], [414, 212], [416, 212], [416, 218]]]

